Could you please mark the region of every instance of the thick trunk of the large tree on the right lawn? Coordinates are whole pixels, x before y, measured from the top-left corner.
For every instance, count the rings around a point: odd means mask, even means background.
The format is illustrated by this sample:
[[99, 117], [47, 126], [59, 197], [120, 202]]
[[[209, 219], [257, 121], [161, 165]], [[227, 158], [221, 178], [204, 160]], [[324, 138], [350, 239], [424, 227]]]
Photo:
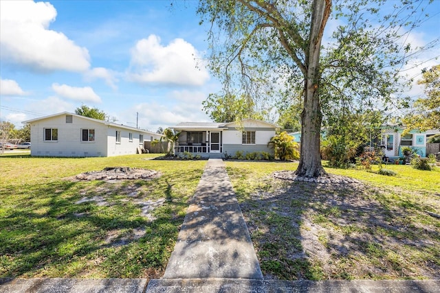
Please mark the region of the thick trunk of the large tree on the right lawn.
[[325, 175], [320, 156], [320, 130], [322, 113], [319, 100], [321, 72], [320, 46], [324, 27], [329, 18], [331, 0], [314, 0], [311, 14], [309, 51], [306, 52], [304, 83], [304, 108], [301, 114], [301, 152], [296, 175], [319, 177]]

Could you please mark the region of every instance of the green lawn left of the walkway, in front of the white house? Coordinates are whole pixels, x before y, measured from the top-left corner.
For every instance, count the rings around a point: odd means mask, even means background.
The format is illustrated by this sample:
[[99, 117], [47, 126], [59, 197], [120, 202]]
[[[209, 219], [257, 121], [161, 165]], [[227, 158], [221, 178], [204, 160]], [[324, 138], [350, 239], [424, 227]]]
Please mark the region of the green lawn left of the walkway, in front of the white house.
[[[148, 278], [164, 271], [206, 161], [0, 157], [0, 277]], [[104, 167], [155, 169], [153, 180], [74, 182]], [[133, 190], [137, 196], [129, 196]], [[107, 205], [76, 204], [102, 196]], [[139, 200], [166, 202], [149, 220]], [[135, 232], [141, 237], [135, 237]]]

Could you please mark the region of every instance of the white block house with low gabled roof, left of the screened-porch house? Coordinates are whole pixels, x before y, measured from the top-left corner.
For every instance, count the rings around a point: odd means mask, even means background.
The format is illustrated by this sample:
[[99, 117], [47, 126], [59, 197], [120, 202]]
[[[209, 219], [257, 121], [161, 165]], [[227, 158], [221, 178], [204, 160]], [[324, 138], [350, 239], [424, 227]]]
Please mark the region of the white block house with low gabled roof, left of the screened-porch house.
[[32, 156], [120, 156], [136, 154], [144, 141], [162, 134], [63, 112], [23, 121], [30, 124]]

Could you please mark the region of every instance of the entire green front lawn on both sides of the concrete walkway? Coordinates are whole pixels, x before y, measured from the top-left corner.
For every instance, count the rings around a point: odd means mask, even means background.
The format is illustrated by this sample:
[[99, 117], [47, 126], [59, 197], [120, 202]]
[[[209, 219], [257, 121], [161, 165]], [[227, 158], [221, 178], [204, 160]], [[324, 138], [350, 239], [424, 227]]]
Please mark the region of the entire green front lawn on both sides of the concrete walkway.
[[[153, 156], [1, 156], [0, 277], [161, 277], [206, 161], [149, 160]], [[225, 164], [266, 277], [440, 277], [440, 221], [426, 213], [440, 210], [440, 168], [388, 165], [397, 176], [326, 168], [365, 183], [327, 187], [272, 177], [296, 163]], [[162, 176], [71, 180], [115, 166], [155, 169]], [[106, 205], [76, 204], [94, 196]], [[165, 202], [151, 212], [153, 219], [142, 216], [139, 201], [159, 199]]]

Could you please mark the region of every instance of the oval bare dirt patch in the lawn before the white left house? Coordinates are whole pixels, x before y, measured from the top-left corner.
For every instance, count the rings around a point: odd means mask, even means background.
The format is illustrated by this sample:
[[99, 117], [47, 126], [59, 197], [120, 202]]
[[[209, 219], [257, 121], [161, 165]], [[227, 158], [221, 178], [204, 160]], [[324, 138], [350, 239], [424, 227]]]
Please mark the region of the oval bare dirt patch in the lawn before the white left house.
[[159, 176], [155, 170], [131, 168], [131, 167], [106, 167], [101, 171], [91, 171], [75, 176], [76, 180], [138, 180], [151, 179]]

